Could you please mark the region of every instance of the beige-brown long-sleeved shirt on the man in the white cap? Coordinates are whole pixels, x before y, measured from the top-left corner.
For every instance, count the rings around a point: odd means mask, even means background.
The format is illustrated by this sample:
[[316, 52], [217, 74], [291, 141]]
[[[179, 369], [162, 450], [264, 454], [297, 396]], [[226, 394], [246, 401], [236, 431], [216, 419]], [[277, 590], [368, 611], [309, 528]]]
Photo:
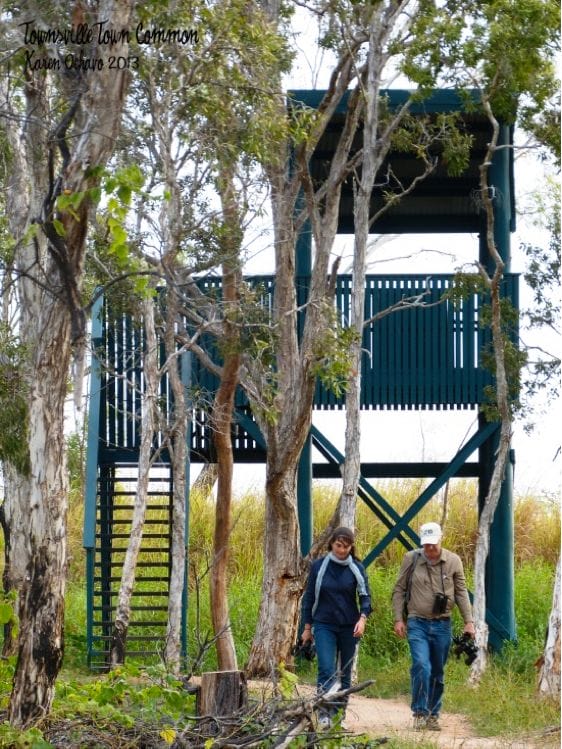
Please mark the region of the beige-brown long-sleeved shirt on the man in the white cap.
[[447, 549], [441, 549], [441, 557], [435, 564], [429, 563], [422, 549], [409, 551], [404, 556], [398, 580], [392, 591], [394, 621], [402, 621], [402, 606], [406, 596], [408, 573], [416, 554], [419, 554], [419, 557], [412, 575], [408, 618], [419, 616], [423, 619], [434, 619], [433, 601], [435, 594], [444, 592], [449, 600], [442, 617], [450, 616], [456, 603], [464, 623], [471, 622], [472, 607], [466, 589], [462, 562], [457, 554], [447, 551]]

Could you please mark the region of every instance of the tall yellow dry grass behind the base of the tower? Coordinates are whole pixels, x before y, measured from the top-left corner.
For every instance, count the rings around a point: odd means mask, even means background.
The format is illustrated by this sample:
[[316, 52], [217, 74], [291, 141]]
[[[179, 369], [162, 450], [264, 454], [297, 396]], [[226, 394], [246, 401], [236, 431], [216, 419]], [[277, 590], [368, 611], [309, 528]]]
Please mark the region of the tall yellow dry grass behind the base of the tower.
[[[373, 482], [374, 483], [374, 482]], [[377, 482], [377, 491], [394, 507], [404, 512], [425, 486], [420, 481], [394, 480]], [[337, 482], [315, 482], [313, 487], [314, 533], [328, 523], [339, 496]], [[189, 554], [193, 574], [202, 575], [211, 563], [215, 503], [213, 496], [193, 493], [190, 497]], [[72, 558], [71, 579], [83, 575], [81, 498], [73, 496], [69, 512], [69, 538]], [[556, 564], [560, 550], [560, 506], [546, 498], [525, 496], [514, 503], [515, 560], [545, 561]], [[460, 555], [467, 567], [472, 566], [478, 523], [477, 485], [468, 479], [453, 479], [414, 518], [417, 531], [422, 523], [437, 520], [443, 523], [447, 548]], [[254, 575], [261, 571], [264, 528], [264, 499], [258, 492], [236, 497], [233, 503], [233, 529], [230, 569], [233, 576]], [[358, 552], [365, 556], [386, 532], [385, 526], [369, 508], [360, 502], [357, 508]], [[402, 546], [391, 543], [378, 560], [381, 566], [400, 561]]]

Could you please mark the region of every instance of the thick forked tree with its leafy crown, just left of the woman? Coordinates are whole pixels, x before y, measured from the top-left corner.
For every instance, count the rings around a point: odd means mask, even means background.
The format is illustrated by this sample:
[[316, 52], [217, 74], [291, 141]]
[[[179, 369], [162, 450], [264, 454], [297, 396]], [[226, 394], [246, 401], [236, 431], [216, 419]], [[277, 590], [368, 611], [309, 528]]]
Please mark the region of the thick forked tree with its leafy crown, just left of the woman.
[[[278, 22], [282, 6], [264, 2], [272, 23]], [[330, 276], [330, 255], [338, 230], [339, 203], [344, 182], [356, 179], [356, 214], [361, 236], [356, 240], [358, 261], [355, 284], [364, 280], [361, 257], [371, 222], [370, 192], [384, 155], [393, 144], [415, 150], [421, 146], [420, 133], [408, 127], [411, 102], [423, 98], [436, 80], [428, 74], [425, 61], [415, 59], [419, 36], [432, 39], [432, 49], [439, 48], [440, 38], [458, 39], [464, 25], [447, 24], [445, 15], [432, 3], [379, 2], [309, 3], [307, 11], [319, 21], [320, 44], [329, 48], [334, 60], [330, 82], [319, 107], [311, 112], [293, 107], [291, 142], [282, 158], [265, 163], [271, 186], [272, 222], [275, 252], [275, 295], [273, 326], [274, 365], [269, 373], [260, 372], [252, 362], [243, 365], [242, 381], [253, 397], [256, 390], [272, 393], [269, 418], [254, 409], [267, 443], [264, 577], [259, 622], [250, 653], [251, 673], [270, 673], [280, 660], [289, 657], [298, 617], [298, 603], [306, 568], [299, 553], [296, 506], [296, 472], [299, 456], [311, 425], [316, 378], [333, 380], [333, 366], [345, 362], [346, 379], [353, 378], [358, 356], [358, 341], [363, 326], [363, 311], [356, 305], [353, 334], [350, 329], [333, 331], [334, 285]], [[419, 23], [414, 24], [418, 18]], [[414, 33], [415, 29], [415, 33]], [[411, 98], [397, 111], [391, 111], [379, 100], [382, 81], [400, 66], [412, 78], [418, 72], [419, 85]], [[425, 74], [425, 75], [424, 75]], [[278, 81], [279, 87], [281, 86]], [[373, 90], [374, 89], [374, 90]], [[334, 156], [326, 165], [326, 177], [315, 184], [309, 172], [309, 160], [336, 108], [347, 96], [345, 123]], [[367, 108], [369, 111], [367, 112]], [[411, 124], [411, 123], [410, 123]], [[364, 130], [363, 145], [355, 150], [354, 142]], [[418, 149], [423, 151], [423, 146]], [[425, 152], [424, 152], [425, 155]], [[423, 157], [422, 157], [423, 161]], [[428, 165], [430, 169], [430, 165]], [[413, 189], [414, 185], [406, 189]], [[300, 195], [302, 194], [302, 201]], [[299, 232], [310, 222], [314, 245], [309, 297], [299, 336], [294, 284], [295, 252]], [[333, 268], [332, 272], [336, 272]], [[360, 300], [360, 293], [357, 299]], [[349, 356], [351, 339], [356, 341]], [[262, 377], [262, 385], [259, 386]], [[265, 380], [265, 381], [264, 381]], [[268, 387], [264, 387], [267, 385]], [[256, 387], [257, 386], [257, 387]], [[353, 408], [356, 407], [356, 398]], [[348, 439], [357, 434], [358, 420], [350, 427]], [[346, 456], [347, 457], [347, 456]], [[351, 458], [351, 455], [349, 456]], [[346, 517], [354, 513], [353, 486], [358, 479], [357, 461], [350, 460], [348, 478], [340, 507]], [[282, 538], [283, 543], [278, 539]]]

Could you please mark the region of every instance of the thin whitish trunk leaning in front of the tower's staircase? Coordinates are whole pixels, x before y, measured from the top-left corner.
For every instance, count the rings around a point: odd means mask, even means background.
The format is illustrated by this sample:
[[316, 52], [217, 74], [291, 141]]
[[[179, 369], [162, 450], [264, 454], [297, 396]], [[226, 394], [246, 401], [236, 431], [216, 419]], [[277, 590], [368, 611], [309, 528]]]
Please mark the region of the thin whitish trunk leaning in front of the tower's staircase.
[[158, 342], [154, 324], [154, 299], [152, 297], [145, 299], [142, 309], [145, 351], [143, 357], [144, 392], [142, 393], [141, 445], [139, 450], [137, 492], [111, 635], [110, 664], [112, 667], [125, 661], [125, 647], [131, 616], [131, 596], [135, 584], [137, 559], [144, 531], [150, 468], [152, 466], [152, 445], [154, 443], [154, 433], [157, 423], [156, 413], [160, 376], [158, 372]]

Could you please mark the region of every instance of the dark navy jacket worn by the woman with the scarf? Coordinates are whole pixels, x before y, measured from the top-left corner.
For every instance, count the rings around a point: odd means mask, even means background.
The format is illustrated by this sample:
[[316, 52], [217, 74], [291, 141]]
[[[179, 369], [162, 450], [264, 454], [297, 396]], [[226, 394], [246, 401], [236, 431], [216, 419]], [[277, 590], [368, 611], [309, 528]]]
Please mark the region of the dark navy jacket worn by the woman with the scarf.
[[[322, 580], [314, 618], [312, 617], [316, 578], [318, 577], [318, 571], [322, 562], [323, 558], [315, 559], [310, 567], [310, 574], [302, 601], [303, 624], [322, 622], [323, 624], [355, 625], [360, 614], [369, 616], [372, 611], [371, 594], [369, 592], [369, 581], [365, 573], [365, 568], [361, 562], [354, 560], [365, 579], [367, 595], [364, 596], [358, 595], [357, 580], [349, 567], [330, 560], [324, 573], [324, 579]], [[358, 598], [359, 606], [357, 605]]]

